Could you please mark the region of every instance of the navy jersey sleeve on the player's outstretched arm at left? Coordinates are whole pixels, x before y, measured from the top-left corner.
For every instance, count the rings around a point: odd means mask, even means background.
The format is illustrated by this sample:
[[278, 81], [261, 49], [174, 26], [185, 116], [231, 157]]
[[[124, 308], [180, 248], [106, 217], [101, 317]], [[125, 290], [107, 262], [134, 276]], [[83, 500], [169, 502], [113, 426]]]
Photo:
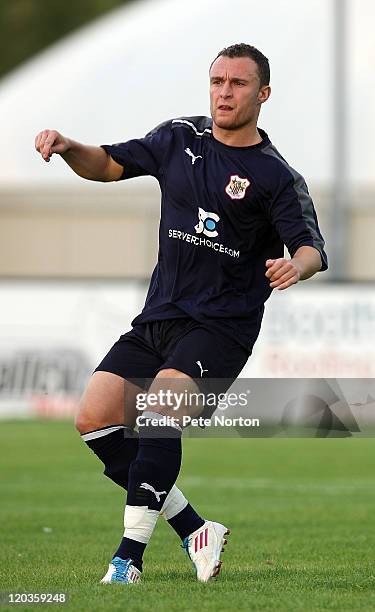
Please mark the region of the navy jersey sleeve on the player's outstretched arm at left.
[[136, 176], [159, 178], [172, 139], [171, 122], [158, 125], [144, 138], [112, 145], [101, 145], [124, 171], [118, 180]]

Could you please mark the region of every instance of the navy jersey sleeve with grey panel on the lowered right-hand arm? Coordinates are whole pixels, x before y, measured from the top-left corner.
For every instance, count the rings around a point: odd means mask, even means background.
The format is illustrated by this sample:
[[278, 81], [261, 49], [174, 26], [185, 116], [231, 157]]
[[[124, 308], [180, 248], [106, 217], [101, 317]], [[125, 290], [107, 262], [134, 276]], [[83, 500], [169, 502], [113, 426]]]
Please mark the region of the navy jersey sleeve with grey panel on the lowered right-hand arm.
[[317, 249], [322, 259], [320, 271], [327, 270], [324, 239], [320, 233], [314, 204], [304, 178], [292, 168], [285, 169], [268, 203], [268, 214], [291, 257], [301, 246]]

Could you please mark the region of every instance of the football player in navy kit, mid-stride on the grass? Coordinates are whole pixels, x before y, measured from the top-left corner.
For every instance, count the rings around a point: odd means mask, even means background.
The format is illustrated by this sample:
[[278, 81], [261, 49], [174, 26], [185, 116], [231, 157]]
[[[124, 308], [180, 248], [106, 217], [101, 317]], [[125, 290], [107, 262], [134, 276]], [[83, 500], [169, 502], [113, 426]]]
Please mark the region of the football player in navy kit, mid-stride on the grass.
[[271, 92], [267, 58], [250, 45], [232, 45], [209, 76], [211, 118], [175, 118], [145, 138], [101, 147], [55, 130], [35, 141], [45, 161], [60, 154], [83, 178], [151, 175], [162, 194], [158, 262], [145, 306], [96, 368], [76, 422], [106, 476], [127, 490], [124, 537], [103, 582], [140, 579], [159, 513], [182, 539], [197, 578], [219, 573], [228, 530], [202, 518], [175, 484], [180, 417], [197, 416], [202, 406], [183, 406], [173, 420], [165, 418], [176, 415], [172, 406], [148, 407], [137, 437], [136, 395], [181, 385], [207, 391], [212, 379], [225, 379], [228, 388], [252, 352], [272, 290], [327, 269], [306, 184], [257, 127]]

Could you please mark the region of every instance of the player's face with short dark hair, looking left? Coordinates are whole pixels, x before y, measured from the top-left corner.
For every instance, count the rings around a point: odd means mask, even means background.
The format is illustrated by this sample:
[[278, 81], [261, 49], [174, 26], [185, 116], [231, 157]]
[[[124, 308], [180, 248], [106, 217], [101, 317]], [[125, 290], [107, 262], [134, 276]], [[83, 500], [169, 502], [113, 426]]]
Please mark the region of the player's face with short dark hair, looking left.
[[260, 87], [258, 66], [249, 57], [220, 56], [211, 66], [211, 116], [221, 129], [238, 130], [256, 123], [269, 92], [269, 87]]

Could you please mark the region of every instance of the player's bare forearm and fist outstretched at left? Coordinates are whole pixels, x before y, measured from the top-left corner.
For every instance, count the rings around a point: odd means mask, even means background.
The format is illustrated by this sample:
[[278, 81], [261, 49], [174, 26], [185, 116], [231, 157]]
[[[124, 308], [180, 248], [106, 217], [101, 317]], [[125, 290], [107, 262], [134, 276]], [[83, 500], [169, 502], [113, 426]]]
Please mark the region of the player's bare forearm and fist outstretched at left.
[[124, 171], [102, 147], [81, 144], [56, 130], [39, 132], [35, 148], [46, 162], [54, 153], [61, 155], [78, 176], [90, 181], [117, 181]]

